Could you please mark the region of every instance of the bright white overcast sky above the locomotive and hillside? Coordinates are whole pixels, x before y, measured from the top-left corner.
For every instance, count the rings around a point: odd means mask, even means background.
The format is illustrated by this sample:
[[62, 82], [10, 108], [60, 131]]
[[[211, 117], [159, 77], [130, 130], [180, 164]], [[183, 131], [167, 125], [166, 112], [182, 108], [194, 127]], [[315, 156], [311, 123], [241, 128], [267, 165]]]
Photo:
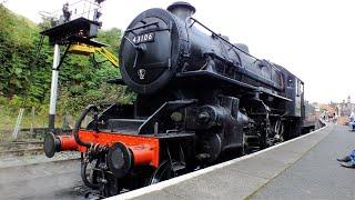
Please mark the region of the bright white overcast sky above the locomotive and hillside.
[[[3, 0], [0, 0], [2, 2]], [[69, 0], [69, 3], [77, 0]], [[12, 11], [39, 22], [39, 11], [61, 9], [67, 0], [6, 0]], [[171, 0], [106, 0], [103, 29], [124, 30], [140, 12], [166, 8]], [[284, 66], [305, 82], [311, 102], [355, 99], [354, 0], [189, 0], [195, 18], [252, 54]]]

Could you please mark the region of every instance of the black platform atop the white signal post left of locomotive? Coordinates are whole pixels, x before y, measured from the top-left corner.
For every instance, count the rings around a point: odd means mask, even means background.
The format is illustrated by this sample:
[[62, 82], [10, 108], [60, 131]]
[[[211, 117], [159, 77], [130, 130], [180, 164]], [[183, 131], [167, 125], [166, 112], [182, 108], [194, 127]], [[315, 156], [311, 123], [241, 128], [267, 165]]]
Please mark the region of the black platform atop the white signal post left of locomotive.
[[[100, 22], [91, 21], [85, 18], [78, 18], [72, 21], [47, 29], [42, 31], [41, 34], [48, 36], [49, 42], [52, 46], [55, 43], [68, 44], [80, 39], [90, 41], [91, 38], [95, 38], [98, 36], [100, 27]], [[80, 42], [88, 43], [85, 41]]]

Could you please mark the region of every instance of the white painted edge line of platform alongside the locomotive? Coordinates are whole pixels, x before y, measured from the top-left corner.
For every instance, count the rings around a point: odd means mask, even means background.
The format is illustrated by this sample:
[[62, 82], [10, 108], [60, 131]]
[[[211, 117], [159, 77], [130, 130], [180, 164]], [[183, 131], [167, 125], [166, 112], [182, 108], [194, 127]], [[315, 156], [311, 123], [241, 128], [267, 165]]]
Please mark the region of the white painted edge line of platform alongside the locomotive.
[[114, 200], [114, 199], [133, 199], [133, 198], [136, 198], [136, 197], [140, 197], [140, 196], [143, 196], [145, 193], [151, 193], [153, 191], [158, 191], [158, 190], [162, 190], [164, 188], [168, 188], [170, 186], [173, 186], [173, 184], [178, 184], [182, 181], [185, 181], [185, 180], [189, 180], [189, 179], [192, 179], [194, 177], [199, 177], [201, 174], [204, 174], [204, 173], [207, 173], [207, 172], [211, 172], [211, 171], [215, 171], [217, 169], [221, 169], [223, 167], [226, 167], [226, 166], [230, 166], [230, 164], [233, 164], [235, 162], [239, 162], [239, 161], [242, 161], [242, 160], [245, 160], [245, 159], [248, 159], [248, 158], [252, 158], [252, 157], [255, 157], [257, 154], [261, 154], [263, 152], [266, 152], [266, 151], [270, 151], [272, 149], [275, 149], [277, 147], [281, 147], [281, 146], [285, 146], [290, 142], [293, 142], [293, 141], [296, 141], [296, 140], [300, 140], [302, 138], [306, 138], [306, 137], [310, 137], [323, 129], [325, 129], [327, 127], [327, 124], [325, 124], [325, 127], [321, 128], [321, 129], [317, 129], [313, 132], [310, 132], [307, 134], [304, 134], [304, 136], [301, 136], [301, 137], [297, 137], [297, 138], [294, 138], [292, 140], [288, 140], [288, 141], [285, 141], [285, 142], [282, 142], [282, 143], [278, 143], [276, 146], [273, 146], [271, 148], [267, 148], [267, 149], [263, 149], [261, 151], [257, 151], [257, 152], [254, 152], [254, 153], [251, 153], [251, 154], [246, 154], [244, 157], [240, 157], [240, 158], [236, 158], [236, 159], [233, 159], [233, 160], [230, 160], [230, 161], [225, 161], [225, 162], [222, 162], [222, 163], [219, 163], [219, 164], [215, 164], [215, 166], [211, 166], [209, 168], [204, 168], [204, 169], [201, 169], [199, 171], [194, 171], [194, 172], [191, 172], [191, 173], [186, 173], [186, 174], [183, 174], [183, 176], [180, 176], [180, 177], [176, 177], [176, 178], [173, 178], [173, 179], [170, 179], [170, 180], [166, 180], [166, 181], [162, 181], [162, 182], [159, 182], [156, 184], [152, 184], [152, 186], [148, 186], [148, 187], [144, 187], [144, 188], [140, 188], [140, 189], [136, 189], [136, 190], [133, 190], [133, 191], [130, 191], [130, 192], [126, 192], [126, 193], [122, 193], [122, 194], [119, 194], [119, 196], [114, 196], [114, 197], [110, 197], [108, 198], [108, 200]]

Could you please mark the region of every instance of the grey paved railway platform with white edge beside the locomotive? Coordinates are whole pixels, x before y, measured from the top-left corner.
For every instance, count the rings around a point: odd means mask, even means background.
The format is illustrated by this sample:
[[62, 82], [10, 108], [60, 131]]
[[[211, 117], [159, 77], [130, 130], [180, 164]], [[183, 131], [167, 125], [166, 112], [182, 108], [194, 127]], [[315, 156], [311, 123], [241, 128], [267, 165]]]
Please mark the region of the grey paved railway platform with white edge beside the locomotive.
[[275, 147], [110, 199], [355, 199], [348, 127], [326, 127]]

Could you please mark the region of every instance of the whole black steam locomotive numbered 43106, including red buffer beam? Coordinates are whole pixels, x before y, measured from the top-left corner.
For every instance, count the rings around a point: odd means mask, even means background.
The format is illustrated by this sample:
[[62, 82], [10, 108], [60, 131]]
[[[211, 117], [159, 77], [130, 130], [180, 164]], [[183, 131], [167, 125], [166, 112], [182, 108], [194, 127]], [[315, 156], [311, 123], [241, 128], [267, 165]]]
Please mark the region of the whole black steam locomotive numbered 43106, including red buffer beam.
[[[175, 2], [139, 14], [122, 38], [122, 79], [113, 81], [135, 91], [135, 102], [100, 114], [87, 107], [72, 137], [47, 138], [48, 156], [83, 152], [83, 181], [112, 196], [300, 136], [303, 82], [194, 12]], [[91, 110], [93, 121], [80, 129]]]

